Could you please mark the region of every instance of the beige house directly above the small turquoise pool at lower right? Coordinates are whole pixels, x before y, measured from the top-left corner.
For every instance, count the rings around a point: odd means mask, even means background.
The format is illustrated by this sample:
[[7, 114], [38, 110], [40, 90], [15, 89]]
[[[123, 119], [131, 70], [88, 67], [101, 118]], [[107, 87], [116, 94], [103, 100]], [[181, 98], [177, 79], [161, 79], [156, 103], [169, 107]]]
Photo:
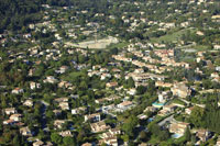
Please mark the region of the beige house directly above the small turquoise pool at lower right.
[[184, 135], [187, 127], [189, 127], [189, 123], [185, 123], [185, 122], [173, 122], [169, 125], [169, 132], [170, 133], [175, 133], [175, 134], [179, 134], [179, 135]]

